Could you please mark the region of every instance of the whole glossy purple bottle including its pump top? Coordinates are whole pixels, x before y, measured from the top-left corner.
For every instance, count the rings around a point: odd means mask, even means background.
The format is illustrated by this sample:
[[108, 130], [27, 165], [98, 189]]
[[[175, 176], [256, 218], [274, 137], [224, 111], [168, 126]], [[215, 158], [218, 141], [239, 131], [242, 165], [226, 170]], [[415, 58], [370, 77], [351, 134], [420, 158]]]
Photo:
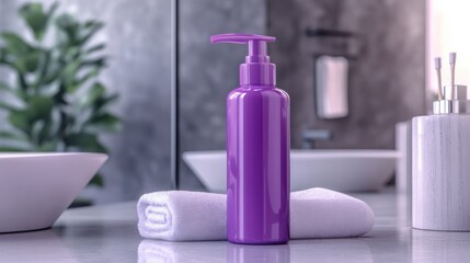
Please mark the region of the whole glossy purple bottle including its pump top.
[[227, 98], [227, 226], [233, 243], [289, 241], [289, 96], [275, 87], [272, 36], [222, 34], [214, 43], [248, 44], [240, 88]]

